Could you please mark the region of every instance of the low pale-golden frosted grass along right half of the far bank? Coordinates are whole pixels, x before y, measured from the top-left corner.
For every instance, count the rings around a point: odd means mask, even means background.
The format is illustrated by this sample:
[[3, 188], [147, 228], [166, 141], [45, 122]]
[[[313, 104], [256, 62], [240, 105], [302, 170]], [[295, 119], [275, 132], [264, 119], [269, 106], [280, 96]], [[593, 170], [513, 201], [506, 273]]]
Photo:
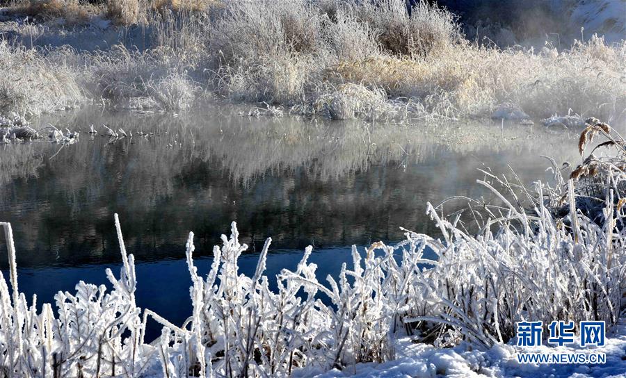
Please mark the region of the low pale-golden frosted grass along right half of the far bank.
[[343, 60], [328, 70], [339, 80], [384, 88], [452, 117], [490, 115], [498, 104], [520, 106], [532, 117], [568, 114], [623, 120], [626, 43], [602, 38], [571, 49], [505, 49], [459, 44], [424, 59], [373, 56]]

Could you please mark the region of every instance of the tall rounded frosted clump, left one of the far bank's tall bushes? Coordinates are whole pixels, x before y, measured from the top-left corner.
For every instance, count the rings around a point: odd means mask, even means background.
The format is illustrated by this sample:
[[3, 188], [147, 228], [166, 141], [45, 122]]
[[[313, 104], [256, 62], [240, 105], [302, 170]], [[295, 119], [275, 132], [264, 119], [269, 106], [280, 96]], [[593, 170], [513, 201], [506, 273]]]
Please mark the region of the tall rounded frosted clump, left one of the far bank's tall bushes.
[[216, 85], [234, 99], [295, 104], [325, 65], [324, 20], [310, 1], [236, 1], [211, 24]]

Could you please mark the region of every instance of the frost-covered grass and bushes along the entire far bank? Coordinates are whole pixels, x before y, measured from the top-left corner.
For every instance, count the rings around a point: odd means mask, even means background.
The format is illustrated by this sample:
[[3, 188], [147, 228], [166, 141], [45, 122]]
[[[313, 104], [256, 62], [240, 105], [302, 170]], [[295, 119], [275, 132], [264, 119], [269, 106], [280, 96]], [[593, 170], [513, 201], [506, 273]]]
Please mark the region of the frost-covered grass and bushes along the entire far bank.
[[[609, 45], [584, 34], [584, 42], [568, 48], [499, 48], [465, 40], [454, 15], [426, 3], [412, 17], [403, 0], [359, 4], [110, 1], [108, 15], [115, 23], [102, 25], [99, 17], [107, 14], [102, 10], [86, 26], [101, 25], [107, 35], [115, 31], [106, 51], [54, 47], [54, 40], [42, 37], [51, 26], [37, 24], [10, 26], [17, 44], [3, 50], [27, 72], [47, 60], [49, 71], [67, 75], [60, 81], [81, 83], [83, 100], [104, 97], [112, 104], [164, 110], [188, 108], [188, 99], [212, 91], [233, 101], [341, 119], [489, 116], [503, 103], [534, 118], [575, 113], [621, 122], [625, 117], [626, 42]], [[68, 34], [86, 35], [83, 26], [59, 27], [64, 33], [59, 43], [74, 43]], [[26, 59], [20, 44], [36, 46], [38, 39], [53, 47], [26, 49], [33, 60]], [[99, 38], [93, 45], [106, 47]], [[59, 55], [56, 50], [65, 58], [50, 60]], [[14, 97], [32, 113], [52, 110], [35, 106], [45, 105], [49, 100], [40, 97], [47, 96]]]

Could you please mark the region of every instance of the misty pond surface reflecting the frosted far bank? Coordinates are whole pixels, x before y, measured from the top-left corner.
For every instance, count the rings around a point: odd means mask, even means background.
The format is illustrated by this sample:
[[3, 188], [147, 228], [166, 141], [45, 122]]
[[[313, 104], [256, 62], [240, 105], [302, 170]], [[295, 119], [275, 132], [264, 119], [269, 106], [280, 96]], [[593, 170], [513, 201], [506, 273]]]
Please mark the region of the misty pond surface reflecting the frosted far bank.
[[[104, 283], [104, 268], [120, 260], [119, 213], [138, 261], [140, 306], [180, 323], [190, 282], [184, 262], [168, 260], [184, 257], [188, 231], [195, 255], [209, 261], [232, 220], [251, 252], [272, 236], [273, 250], [286, 252], [269, 257], [270, 277], [311, 244], [326, 276], [349, 260], [345, 246], [399, 240], [399, 227], [435, 235], [426, 202], [488, 195], [475, 183], [483, 164], [503, 173], [511, 163], [528, 182], [549, 178], [539, 155], [577, 162], [577, 135], [538, 127], [250, 119], [222, 109], [181, 117], [86, 109], [51, 120], [82, 129], [75, 145], [0, 148], [0, 220], [13, 224], [21, 288], [41, 303], [79, 279]], [[90, 124], [134, 137], [109, 144], [90, 138]], [[257, 255], [242, 258], [250, 274]]]

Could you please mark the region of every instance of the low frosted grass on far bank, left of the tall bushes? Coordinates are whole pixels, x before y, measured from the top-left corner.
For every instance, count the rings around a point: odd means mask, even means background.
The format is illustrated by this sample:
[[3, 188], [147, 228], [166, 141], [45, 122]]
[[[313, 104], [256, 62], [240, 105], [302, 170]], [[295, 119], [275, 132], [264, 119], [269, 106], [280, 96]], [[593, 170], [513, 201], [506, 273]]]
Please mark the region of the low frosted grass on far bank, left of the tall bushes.
[[140, 53], [119, 45], [93, 54], [73, 49], [11, 47], [0, 42], [1, 113], [32, 116], [67, 110], [87, 101], [113, 107], [186, 110], [198, 83], [159, 51]]

